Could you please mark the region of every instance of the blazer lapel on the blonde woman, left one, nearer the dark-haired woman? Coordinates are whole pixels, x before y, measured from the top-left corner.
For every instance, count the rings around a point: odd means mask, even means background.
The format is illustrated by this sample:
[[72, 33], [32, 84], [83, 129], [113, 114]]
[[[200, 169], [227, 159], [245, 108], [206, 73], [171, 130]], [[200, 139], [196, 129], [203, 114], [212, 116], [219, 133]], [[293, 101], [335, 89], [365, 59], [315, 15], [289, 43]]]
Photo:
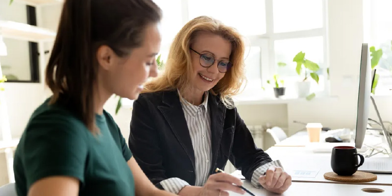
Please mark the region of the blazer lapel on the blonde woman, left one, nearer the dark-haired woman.
[[192, 162], [194, 170], [196, 171], [195, 152], [192, 146], [191, 135], [189, 134], [188, 125], [186, 123], [184, 111], [182, 110], [177, 91], [164, 92], [162, 102], [164, 104], [159, 105], [158, 109], [162, 112], [166, 121], [169, 123], [173, 134], [184, 148]]

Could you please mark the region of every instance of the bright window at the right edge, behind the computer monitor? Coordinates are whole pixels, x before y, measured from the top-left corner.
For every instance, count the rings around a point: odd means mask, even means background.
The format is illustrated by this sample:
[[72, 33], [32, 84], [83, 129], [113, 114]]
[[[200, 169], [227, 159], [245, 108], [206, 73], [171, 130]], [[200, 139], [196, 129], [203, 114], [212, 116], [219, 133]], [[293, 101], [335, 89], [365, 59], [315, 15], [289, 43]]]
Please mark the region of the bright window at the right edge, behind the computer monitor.
[[382, 49], [376, 67], [379, 74], [375, 95], [392, 95], [392, 13], [391, 0], [364, 0], [364, 42]]

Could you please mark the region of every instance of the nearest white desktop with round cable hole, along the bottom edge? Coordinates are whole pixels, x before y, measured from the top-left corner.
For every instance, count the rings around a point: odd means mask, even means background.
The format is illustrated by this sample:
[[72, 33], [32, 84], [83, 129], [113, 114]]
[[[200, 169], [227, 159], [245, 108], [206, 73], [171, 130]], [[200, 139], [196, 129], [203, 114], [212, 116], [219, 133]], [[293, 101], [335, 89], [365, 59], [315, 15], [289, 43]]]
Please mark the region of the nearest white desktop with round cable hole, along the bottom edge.
[[[276, 196], [265, 189], [256, 189], [249, 182], [244, 182], [244, 187], [256, 196]], [[369, 196], [370, 193], [362, 191], [366, 188], [376, 188], [384, 190], [383, 193], [373, 194], [374, 196], [392, 196], [392, 186], [374, 185], [346, 185], [346, 184], [325, 184], [325, 183], [303, 183], [293, 182], [291, 187], [282, 196]], [[239, 195], [230, 192], [230, 196]]]

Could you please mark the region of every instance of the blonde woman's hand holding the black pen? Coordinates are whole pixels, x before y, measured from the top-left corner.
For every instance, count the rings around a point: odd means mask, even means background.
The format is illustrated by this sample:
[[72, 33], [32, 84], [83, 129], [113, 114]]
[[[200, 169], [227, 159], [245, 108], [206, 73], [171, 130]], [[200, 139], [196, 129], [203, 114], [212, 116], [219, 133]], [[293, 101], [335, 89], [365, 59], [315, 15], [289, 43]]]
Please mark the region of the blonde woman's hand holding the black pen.
[[[229, 196], [226, 191], [232, 191], [239, 194], [245, 194], [240, 187], [243, 183], [240, 179], [227, 174], [216, 173], [210, 175], [207, 182], [201, 187], [199, 196]], [[236, 186], [237, 185], [237, 186]]]

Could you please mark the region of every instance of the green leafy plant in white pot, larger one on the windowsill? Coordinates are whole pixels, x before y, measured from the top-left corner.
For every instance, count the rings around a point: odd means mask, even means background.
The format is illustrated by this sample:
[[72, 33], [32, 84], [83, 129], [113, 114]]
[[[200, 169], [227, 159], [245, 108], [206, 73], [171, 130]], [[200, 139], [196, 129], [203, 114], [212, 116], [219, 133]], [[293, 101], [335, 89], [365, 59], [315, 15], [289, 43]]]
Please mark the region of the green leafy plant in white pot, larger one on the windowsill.
[[308, 78], [313, 78], [319, 84], [319, 74], [317, 74], [317, 71], [319, 71], [320, 68], [317, 63], [306, 59], [305, 53], [302, 51], [295, 55], [293, 62], [296, 62], [297, 64], [295, 71], [298, 75], [301, 75], [301, 73], [304, 73], [305, 75], [302, 81], [296, 83], [298, 97], [305, 98], [310, 92], [311, 83]]

